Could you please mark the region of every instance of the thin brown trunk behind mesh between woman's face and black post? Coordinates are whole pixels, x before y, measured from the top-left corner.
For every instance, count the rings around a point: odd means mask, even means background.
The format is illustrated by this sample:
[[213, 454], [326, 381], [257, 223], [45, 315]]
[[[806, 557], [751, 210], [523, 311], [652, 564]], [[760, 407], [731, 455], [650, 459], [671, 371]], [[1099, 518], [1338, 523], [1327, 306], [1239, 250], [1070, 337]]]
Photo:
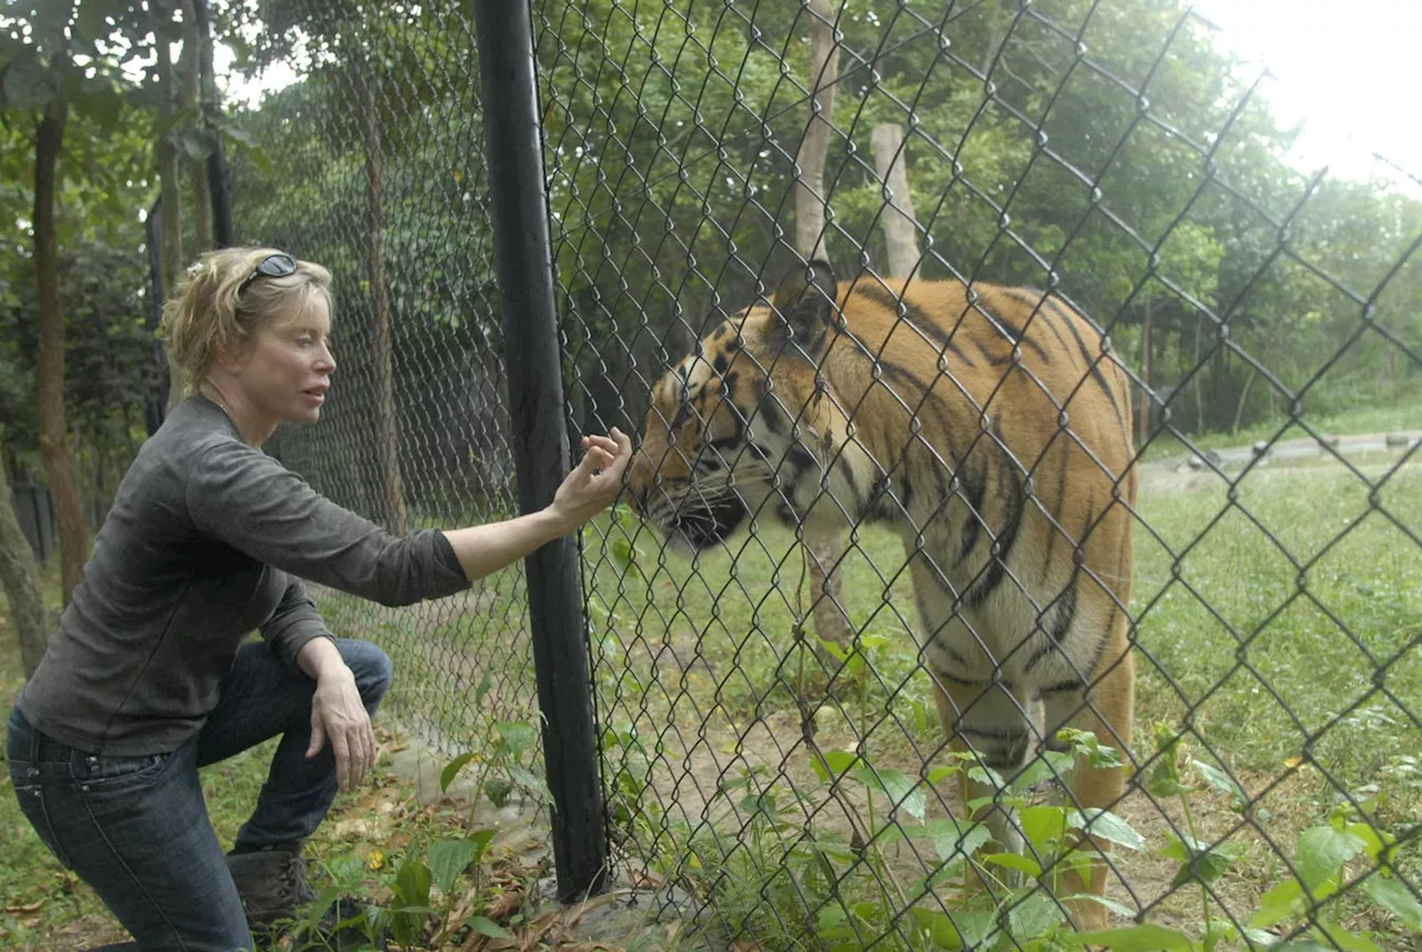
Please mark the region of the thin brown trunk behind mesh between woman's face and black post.
[[385, 153], [380, 136], [375, 84], [361, 77], [361, 138], [365, 145], [365, 274], [370, 277], [370, 357], [375, 372], [375, 452], [380, 455], [385, 529], [402, 534], [408, 524], [400, 477], [400, 433], [395, 428], [395, 374], [385, 290]]

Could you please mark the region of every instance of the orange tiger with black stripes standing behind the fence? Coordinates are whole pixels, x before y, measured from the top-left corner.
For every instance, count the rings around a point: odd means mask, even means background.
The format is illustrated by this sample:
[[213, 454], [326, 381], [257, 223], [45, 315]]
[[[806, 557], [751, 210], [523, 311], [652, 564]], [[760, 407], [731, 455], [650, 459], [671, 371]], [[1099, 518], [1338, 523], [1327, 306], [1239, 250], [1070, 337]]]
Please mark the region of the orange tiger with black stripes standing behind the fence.
[[[657, 379], [627, 494], [687, 553], [752, 519], [812, 551], [856, 526], [894, 531], [948, 746], [1011, 780], [1062, 749], [1061, 727], [1129, 750], [1132, 433], [1129, 374], [1059, 294], [840, 281], [815, 259]], [[967, 773], [963, 804], [993, 796]], [[1122, 766], [1078, 756], [1075, 806], [1111, 808], [1123, 789]], [[1021, 853], [1001, 797], [978, 803]], [[1091, 843], [1066, 895], [1105, 894], [1111, 844]], [[1066, 905], [1078, 928], [1105, 926], [1102, 902]]]

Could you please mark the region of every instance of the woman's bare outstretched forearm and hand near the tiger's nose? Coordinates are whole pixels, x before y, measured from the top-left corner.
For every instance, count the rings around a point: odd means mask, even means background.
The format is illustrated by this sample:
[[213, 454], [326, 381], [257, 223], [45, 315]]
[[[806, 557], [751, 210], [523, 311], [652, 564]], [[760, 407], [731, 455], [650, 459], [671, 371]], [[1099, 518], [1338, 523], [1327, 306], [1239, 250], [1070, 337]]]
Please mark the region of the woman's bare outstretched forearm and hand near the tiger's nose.
[[614, 426], [611, 438], [584, 436], [583, 450], [582, 462], [545, 509], [501, 523], [445, 530], [469, 581], [576, 531], [617, 499], [623, 473], [631, 462], [631, 439]]

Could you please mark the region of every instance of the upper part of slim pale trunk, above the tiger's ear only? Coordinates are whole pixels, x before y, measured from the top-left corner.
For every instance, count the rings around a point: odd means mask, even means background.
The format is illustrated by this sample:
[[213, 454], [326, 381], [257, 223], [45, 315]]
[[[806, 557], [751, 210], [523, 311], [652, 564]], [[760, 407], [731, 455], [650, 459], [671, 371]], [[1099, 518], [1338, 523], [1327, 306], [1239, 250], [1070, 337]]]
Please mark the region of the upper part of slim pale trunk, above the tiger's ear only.
[[813, 90], [809, 124], [795, 153], [795, 250], [805, 257], [828, 260], [825, 247], [825, 156], [829, 152], [830, 117], [835, 112], [835, 74], [839, 45], [835, 43], [835, 10], [829, 0], [811, 0], [811, 81]]

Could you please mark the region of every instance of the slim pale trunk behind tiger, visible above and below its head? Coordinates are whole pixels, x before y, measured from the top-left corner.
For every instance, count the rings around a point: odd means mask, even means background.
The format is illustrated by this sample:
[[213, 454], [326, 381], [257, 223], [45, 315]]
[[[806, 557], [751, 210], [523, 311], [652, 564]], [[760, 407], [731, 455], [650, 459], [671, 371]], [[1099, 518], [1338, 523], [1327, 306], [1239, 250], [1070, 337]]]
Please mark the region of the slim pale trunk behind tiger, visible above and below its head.
[[[839, 45], [835, 43], [835, 10], [829, 0], [811, 0], [813, 44], [811, 47], [811, 81], [813, 90], [809, 122], [801, 139], [795, 163], [795, 250], [806, 259], [826, 259], [825, 243], [825, 156], [829, 152], [830, 117], [835, 111], [835, 78], [839, 68]], [[811, 614], [822, 641], [848, 645], [852, 625], [840, 605], [843, 583], [838, 571], [828, 571], [845, 556], [842, 537], [806, 539], [811, 577]], [[823, 656], [823, 655], [822, 655]], [[832, 661], [825, 658], [826, 662]]]

